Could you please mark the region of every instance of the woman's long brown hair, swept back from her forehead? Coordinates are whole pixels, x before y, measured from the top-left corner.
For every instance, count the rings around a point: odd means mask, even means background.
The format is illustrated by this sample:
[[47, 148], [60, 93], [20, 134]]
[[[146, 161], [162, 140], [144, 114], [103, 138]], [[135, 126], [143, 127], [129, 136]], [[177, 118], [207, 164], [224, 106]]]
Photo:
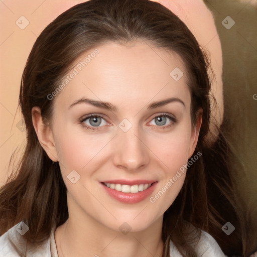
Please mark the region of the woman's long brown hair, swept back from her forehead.
[[[50, 101], [47, 95], [58, 87], [76, 58], [108, 41], [135, 40], [179, 54], [187, 69], [193, 124], [197, 110], [203, 109], [195, 150], [203, 158], [188, 168], [181, 192], [164, 213], [163, 257], [170, 256], [170, 240], [183, 256], [196, 256], [191, 242], [200, 234], [188, 234], [188, 222], [209, 232], [226, 254], [245, 256], [248, 230], [236, 203], [228, 144], [221, 132], [212, 149], [205, 142], [210, 118], [207, 58], [176, 15], [147, 0], [91, 0], [76, 5], [57, 17], [36, 40], [23, 72], [19, 98], [27, 145], [17, 173], [14, 171], [0, 190], [0, 234], [24, 220], [30, 228], [24, 236], [40, 243], [50, 236], [53, 227], [67, 220], [66, 186], [59, 164], [53, 163], [39, 144], [32, 123], [32, 107], [39, 106], [45, 124], [50, 124], [54, 100]], [[214, 165], [216, 160], [219, 165]], [[236, 227], [229, 237], [221, 231], [227, 217]]]

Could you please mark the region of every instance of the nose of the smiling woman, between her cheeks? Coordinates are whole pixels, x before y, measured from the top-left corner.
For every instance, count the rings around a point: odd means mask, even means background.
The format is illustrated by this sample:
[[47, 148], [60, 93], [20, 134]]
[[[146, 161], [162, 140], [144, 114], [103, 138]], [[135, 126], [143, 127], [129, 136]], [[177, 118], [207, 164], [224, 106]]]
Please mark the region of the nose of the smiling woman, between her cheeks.
[[113, 163], [116, 167], [135, 172], [150, 162], [149, 149], [138, 131], [119, 131], [115, 137]]

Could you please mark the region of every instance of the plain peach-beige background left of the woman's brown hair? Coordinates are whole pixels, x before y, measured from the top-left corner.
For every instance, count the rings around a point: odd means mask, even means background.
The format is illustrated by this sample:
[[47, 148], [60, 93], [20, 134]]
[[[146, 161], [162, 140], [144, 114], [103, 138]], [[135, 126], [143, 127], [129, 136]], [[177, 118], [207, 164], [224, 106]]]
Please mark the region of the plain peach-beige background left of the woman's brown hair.
[[[84, 1], [1, 1], [0, 2], [0, 185], [7, 178], [9, 159], [26, 139], [20, 127], [18, 107], [22, 72], [31, 48], [42, 30], [59, 14]], [[21, 29], [16, 21], [29, 25]], [[22, 21], [21, 21], [22, 20]]]

